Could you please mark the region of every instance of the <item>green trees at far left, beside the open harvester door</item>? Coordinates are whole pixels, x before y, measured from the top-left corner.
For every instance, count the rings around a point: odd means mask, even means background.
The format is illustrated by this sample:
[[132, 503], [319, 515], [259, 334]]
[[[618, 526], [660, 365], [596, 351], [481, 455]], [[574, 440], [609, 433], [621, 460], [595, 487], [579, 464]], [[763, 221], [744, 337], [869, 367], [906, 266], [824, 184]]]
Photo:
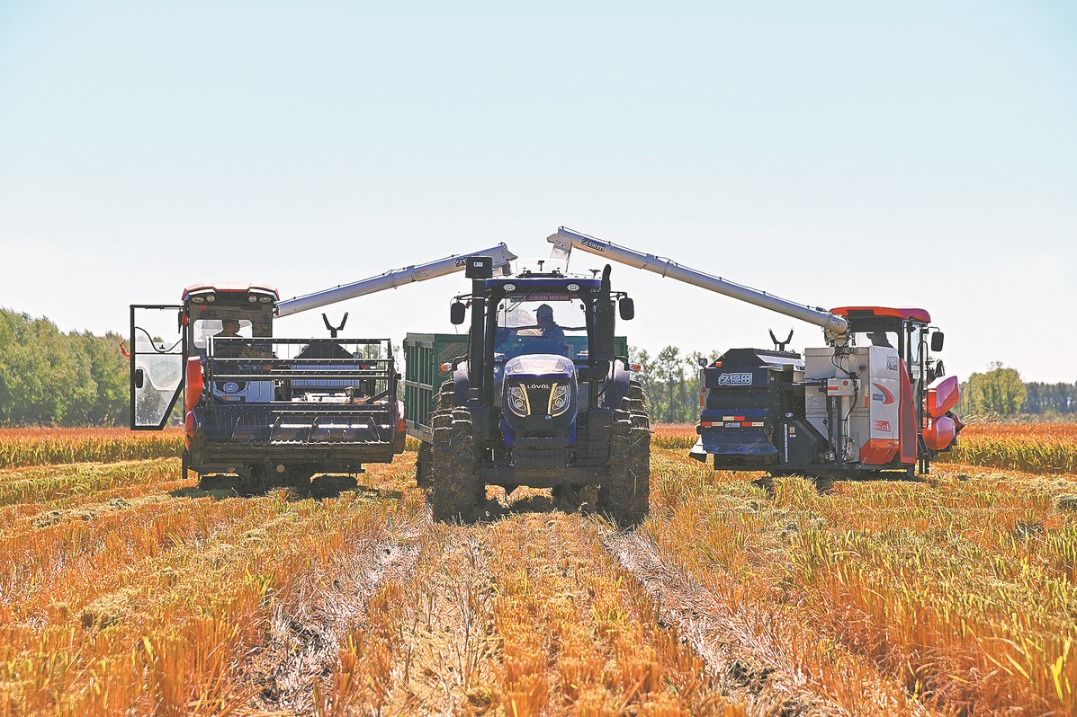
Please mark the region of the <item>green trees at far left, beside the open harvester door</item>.
[[127, 420], [121, 336], [64, 333], [0, 309], [0, 425], [113, 425]]

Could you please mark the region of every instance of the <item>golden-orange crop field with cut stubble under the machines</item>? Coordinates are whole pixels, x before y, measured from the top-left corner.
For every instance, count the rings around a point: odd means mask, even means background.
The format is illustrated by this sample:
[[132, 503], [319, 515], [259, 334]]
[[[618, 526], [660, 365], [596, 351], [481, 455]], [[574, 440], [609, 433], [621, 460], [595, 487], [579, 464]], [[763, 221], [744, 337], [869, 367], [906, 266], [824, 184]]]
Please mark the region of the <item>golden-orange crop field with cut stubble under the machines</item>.
[[0, 715], [1077, 715], [1073, 427], [825, 483], [694, 439], [620, 532], [433, 523], [414, 452], [239, 497], [179, 434], [0, 432]]

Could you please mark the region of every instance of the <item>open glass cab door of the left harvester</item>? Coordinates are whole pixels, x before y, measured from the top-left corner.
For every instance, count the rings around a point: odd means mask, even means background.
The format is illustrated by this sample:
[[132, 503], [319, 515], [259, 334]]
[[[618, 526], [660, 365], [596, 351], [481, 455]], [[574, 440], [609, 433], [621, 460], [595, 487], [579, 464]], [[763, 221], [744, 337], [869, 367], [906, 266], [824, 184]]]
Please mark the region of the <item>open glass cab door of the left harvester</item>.
[[132, 305], [130, 421], [134, 431], [160, 431], [183, 390], [186, 333], [183, 307]]

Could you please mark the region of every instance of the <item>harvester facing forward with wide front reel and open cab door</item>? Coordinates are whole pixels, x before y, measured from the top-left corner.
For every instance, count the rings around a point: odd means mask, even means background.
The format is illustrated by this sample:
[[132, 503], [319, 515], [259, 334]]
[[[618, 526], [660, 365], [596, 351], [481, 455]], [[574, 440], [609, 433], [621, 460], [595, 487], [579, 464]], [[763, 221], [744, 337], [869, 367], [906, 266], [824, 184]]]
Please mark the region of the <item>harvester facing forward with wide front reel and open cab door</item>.
[[450, 256], [284, 301], [264, 284], [196, 284], [179, 305], [132, 306], [131, 427], [163, 428], [182, 394], [182, 475], [235, 475], [249, 490], [391, 462], [406, 436], [391, 341], [341, 338], [327, 320], [330, 338], [279, 338], [275, 323], [463, 268]]

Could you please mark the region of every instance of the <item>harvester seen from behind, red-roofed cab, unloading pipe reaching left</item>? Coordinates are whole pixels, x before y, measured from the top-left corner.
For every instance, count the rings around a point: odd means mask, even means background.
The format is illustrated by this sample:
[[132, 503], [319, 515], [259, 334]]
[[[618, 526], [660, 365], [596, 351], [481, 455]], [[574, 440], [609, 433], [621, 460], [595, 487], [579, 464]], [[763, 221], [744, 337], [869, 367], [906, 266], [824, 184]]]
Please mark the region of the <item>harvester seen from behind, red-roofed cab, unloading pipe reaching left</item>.
[[827, 311], [564, 227], [549, 241], [565, 258], [578, 248], [823, 328], [826, 346], [802, 355], [771, 334], [773, 350], [730, 349], [702, 367], [690, 454], [715, 469], [927, 473], [961, 431], [957, 380], [932, 355], [942, 333], [923, 309]]

